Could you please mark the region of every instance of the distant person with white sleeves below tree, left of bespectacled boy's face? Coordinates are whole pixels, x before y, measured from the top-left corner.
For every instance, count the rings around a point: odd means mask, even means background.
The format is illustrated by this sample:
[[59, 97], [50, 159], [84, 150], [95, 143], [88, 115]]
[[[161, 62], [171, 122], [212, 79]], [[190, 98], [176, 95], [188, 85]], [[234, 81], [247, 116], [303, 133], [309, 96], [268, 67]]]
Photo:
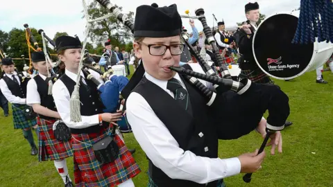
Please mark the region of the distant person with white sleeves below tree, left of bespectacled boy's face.
[[104, 67], [104, 70], [110, 69], [111, 66], [114, 66], [116, 64], [123, 64], [123, 60], [119, 60], [119, 57], [117, 53], [112, 51], [112, 44], [110, 39], [108, 39], [108, 42], [104, 43], [105, 45], [105, 53], [109, 55], [110, 60], [106, 60], [105, 57], [101, 57], [101, 60], [99, 60], [99, 65]]

